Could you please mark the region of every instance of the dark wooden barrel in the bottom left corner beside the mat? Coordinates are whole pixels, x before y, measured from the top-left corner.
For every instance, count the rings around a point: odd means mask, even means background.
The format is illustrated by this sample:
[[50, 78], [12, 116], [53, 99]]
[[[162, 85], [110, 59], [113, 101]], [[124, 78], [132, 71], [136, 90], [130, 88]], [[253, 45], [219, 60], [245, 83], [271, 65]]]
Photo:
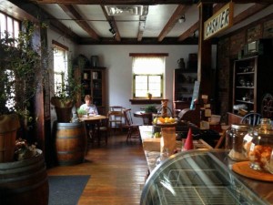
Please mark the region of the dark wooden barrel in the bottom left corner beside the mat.
[[0, 163], [0, 204], [47, 205], [45, 159], [41, 150], [31, 159]]

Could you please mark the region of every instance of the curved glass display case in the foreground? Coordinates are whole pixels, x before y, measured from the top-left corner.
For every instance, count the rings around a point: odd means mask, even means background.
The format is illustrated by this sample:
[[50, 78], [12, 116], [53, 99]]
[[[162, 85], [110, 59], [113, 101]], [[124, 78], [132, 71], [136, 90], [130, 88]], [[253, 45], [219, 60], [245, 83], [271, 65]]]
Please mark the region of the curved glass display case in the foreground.
[[272, 204], [273, 184], [241, 177], [220, 149], [177, 153], [152, 171], [141, 205]]

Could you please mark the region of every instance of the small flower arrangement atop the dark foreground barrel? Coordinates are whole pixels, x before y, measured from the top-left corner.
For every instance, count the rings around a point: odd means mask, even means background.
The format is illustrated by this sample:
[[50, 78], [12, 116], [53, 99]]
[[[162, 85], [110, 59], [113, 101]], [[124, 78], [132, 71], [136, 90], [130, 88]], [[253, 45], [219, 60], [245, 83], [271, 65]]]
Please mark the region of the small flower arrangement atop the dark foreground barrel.
[[29, 145], [25, 139], [15, 141], [15, 159], [18, 161], [29, 159], [37, 154], [36, 143]]

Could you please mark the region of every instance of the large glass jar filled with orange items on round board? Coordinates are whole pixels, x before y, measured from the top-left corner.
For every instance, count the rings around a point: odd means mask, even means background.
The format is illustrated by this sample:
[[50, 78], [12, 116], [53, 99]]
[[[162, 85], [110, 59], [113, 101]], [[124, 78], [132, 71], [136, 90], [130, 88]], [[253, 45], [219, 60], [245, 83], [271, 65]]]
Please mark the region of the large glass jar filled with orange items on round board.
[[273, 128], [269, 118], [261, 118], [260, 125], [250, 130], [244, 138], [244, 149], [248, 154], [250, 168], [273, 173], [272, 148]]

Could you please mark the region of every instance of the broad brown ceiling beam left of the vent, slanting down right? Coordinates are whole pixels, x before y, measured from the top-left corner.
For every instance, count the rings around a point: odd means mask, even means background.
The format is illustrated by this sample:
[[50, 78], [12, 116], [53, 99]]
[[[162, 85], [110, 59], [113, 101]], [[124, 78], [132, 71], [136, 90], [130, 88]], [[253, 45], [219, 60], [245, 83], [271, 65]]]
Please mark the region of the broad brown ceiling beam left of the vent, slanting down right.
[[76, 11], [73, 5], [59, 6], [64, 10], [66, 15], [70, 16], [72, 19], [76, 19], [76, 24], [83, 28], [90, 37], [99, 40], [99, 36], [97, 36], [96, 32], [83, 20], [84, 18]]

